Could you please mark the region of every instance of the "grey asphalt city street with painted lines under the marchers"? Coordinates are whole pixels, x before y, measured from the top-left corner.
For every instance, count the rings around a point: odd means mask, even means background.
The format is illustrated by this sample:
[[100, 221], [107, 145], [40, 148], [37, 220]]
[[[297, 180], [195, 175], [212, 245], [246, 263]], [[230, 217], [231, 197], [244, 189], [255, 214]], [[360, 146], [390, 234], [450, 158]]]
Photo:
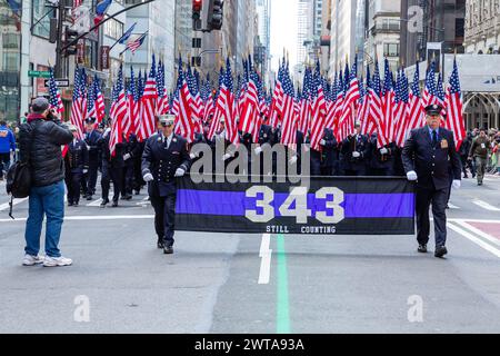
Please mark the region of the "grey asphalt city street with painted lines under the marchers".
[[198, 233], [166, 256], [140, 195], [67, 208], [73, 266], [22, 267], [28, 201], [11, 220], [0, 190], [0, 333], [500, 333], [500, 177], [452, 192], [446, 259], [412, 236]]

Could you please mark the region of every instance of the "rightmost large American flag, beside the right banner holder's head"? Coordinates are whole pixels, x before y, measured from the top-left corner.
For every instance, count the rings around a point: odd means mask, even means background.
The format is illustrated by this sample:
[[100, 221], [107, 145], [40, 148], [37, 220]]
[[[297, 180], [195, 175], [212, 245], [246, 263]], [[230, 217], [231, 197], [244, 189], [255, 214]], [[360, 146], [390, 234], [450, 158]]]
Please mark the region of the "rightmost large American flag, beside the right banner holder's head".
[[453, 132], [454, 141], [457, 142], [457, 150], [459, 150], [463, 139], [466, 138], [466, 127], [463, 121], [463, 102], [460, 90], [460, 77], [457, 59], [453, 61], [453, 71], [450, 77], [446, 102], [448, 116], [444, 127]]

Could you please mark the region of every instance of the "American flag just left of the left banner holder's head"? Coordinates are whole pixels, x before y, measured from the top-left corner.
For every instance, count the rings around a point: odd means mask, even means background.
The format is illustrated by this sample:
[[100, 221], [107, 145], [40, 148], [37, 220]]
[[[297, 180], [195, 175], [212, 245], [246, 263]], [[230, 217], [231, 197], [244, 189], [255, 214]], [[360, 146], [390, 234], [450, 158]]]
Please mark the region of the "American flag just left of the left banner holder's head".
[[151, 70], [146, 81], [144, 92], [142, 96], [142, 121], [141, 121], [141, 139], [147, 140], [156, 132], [156, 113], [157, 113], [157, 67], [154, 55], [152, 56]]

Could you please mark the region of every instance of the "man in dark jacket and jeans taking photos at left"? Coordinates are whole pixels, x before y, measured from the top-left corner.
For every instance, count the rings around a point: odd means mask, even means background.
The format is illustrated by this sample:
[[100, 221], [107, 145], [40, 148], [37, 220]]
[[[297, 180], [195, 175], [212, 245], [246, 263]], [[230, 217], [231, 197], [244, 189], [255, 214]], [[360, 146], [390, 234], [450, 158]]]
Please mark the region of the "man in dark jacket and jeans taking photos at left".
[[[20, 159], [28, 157], [31, 172], [28, 220], [26, 222], [26, 256], [23, 266], [43, 263], [46, 267], [69, 266], [70, 258], [61, 256], [59, 239], [64, 216], [64, 166], [61, 146], [73, 139], [60, 123], [49, 100], [37, 98], [28, 117], [31, 131], [20, 131]], [[46, 257], [40, 257], [40, 235], [47, 216]]]

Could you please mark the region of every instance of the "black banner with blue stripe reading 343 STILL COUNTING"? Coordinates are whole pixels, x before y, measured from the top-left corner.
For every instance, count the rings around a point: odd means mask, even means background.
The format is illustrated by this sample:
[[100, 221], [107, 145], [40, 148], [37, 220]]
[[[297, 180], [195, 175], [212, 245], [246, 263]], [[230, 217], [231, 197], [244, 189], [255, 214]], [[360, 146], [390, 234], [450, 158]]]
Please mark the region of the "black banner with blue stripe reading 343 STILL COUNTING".
[[179, 180], [176, 229], [238, 234], [413, 235], [414, 187], [399, 178], [289, 182]]

